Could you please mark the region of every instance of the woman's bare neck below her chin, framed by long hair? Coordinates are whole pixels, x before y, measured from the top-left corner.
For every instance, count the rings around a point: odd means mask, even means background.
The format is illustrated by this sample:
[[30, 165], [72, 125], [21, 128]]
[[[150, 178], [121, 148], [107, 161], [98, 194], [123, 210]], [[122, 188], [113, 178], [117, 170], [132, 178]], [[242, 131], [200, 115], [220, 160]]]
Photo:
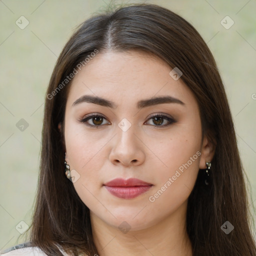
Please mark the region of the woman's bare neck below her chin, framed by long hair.
[[[173, 255], [192, 256], [192, 247], [186, 232], [186, 205], [158, 223], [145, 229], [126, 233], [107, 224], [90, 212], [92, 236], [100, 256]], [[182, 214], [181, 214], [182, 213]]]

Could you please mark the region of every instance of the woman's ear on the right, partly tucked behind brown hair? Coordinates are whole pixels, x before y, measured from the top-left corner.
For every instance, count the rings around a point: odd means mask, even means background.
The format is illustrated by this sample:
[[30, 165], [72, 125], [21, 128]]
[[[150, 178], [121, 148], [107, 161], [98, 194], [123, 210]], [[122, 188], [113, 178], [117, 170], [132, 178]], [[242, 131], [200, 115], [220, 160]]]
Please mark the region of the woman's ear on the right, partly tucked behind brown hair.
[[215, 146], [209, 141], [208, 137], [204, 135], [201, 147], [201, 157], [199, 162], [199, 169], [206, 169], [205, 162], [210, 162], [215, 153]]

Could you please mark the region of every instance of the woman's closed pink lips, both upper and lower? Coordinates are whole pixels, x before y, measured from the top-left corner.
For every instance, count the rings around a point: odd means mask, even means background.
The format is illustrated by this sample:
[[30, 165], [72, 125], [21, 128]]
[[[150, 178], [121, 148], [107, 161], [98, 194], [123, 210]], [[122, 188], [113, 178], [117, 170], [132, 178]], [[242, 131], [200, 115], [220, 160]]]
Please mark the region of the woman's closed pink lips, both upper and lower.
[[129, 199], [146, 192], [152, 184], [137, 178], [115, 178], [104, 184], [105, 188], [113, 195]]

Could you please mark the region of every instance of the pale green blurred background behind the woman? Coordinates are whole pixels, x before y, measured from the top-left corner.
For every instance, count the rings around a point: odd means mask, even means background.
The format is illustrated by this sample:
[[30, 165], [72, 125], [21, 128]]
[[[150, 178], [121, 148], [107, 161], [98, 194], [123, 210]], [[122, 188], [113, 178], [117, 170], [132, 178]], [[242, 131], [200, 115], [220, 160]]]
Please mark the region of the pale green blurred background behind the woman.
[[[141, 2], [159, 4], [184, 17], [212, 51], [251, 183], [252, 206], [256, 201], [256, 0], [111, 1]], [[75, 26], [109, 3], [0, 0], [0, 249], [23, 242], [20, 230], [31, 222], [44, 94], [57, 56]]]

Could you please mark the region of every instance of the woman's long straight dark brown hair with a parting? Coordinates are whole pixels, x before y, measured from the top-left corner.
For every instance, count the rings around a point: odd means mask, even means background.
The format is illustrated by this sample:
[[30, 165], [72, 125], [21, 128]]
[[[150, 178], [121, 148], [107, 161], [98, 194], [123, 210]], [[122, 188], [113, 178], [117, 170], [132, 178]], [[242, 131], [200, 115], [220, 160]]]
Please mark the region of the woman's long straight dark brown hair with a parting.
[[[171, 68], [182, 71], [181, 79], [197, 99], [202, 131], [214, 143], [215, 154], [209, 185], [203, 185], [199, 171], [188, 198], [186, 228], [193, 255], [255, 256], [247, 176], [216, 63], [191, 24], [155, 4], [121, 6], [92, 16], [79, 25], [61, 51], [45, 97], [32, 245], [47, 255], [60, 255], [55, 245], [73, 255], [98, 253], [92, 239], [89, 209], [64, 174], [63, 130], [59, 132], [58, 123], [64, 122], [72, 81], [63, 83], [66, 76], [92, 52], [100, 54], [107, 49], [142, 50], [160, 57]], [[61, 83], [63, 86], [59, 86]], [[221, 229], [225, 221], [234, 226], [229, 234]]]

